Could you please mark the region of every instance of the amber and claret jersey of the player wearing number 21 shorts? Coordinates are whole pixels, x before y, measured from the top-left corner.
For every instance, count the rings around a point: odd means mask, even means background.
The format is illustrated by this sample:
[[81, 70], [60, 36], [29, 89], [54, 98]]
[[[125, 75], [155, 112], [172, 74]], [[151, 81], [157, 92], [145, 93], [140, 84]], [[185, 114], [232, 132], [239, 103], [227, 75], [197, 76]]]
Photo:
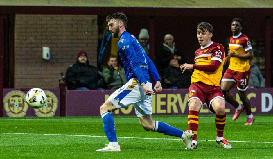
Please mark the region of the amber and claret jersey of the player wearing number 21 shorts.
[[[242, 33], [229, 38], [229, 51], [234, 51], [238, 55], [246, 54], [245, 51], [252, 49], [250, 39]], [[249, 60], [231, 57], [229, 69], [238, 72], [245, 72], [250, 69]]]

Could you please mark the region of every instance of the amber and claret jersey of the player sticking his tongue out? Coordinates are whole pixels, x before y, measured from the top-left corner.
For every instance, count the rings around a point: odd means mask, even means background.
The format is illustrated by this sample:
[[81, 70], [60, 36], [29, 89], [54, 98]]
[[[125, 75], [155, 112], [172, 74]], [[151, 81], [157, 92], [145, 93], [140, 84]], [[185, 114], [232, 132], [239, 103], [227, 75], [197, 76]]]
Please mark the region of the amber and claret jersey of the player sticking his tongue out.
[[218, 60], [221, 64], [214, 72], [204, 72], [194, 69], [191, 76], [191, 83], [203, 82], [207, 85], [220, 86], [225, 58], [224, 47], [219, 43], [211, 42], [209, 45], [196, 50], [194, 55], [195, 65], [209, 65], [211, 64], [211, 60]]

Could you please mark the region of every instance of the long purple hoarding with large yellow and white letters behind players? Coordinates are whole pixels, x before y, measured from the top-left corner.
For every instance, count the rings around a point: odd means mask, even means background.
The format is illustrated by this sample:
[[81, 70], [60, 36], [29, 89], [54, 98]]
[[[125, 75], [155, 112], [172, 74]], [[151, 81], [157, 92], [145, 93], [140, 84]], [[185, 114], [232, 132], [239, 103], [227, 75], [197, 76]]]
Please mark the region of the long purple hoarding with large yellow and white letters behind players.
[[[99, 116], [100, 106], [115, 90], [67, 90], [65, 116]], [[230, 90], [240, 104], [240, 97], [236, 89]], [[154, 115], [187, 115], [188, 89], [164, 89], [152, 97], [152, 113]], [[248, 89], [247, 97], [250, 100], [254, 114], [273, 113], [273, 89]], [[226, 102], [226, 113], [234, 114], [235, 109]], [[132, 105], [113, 112], [114, 115], [135, 115]], [[212, 114], [206, 105], [200, 114]], [[245, 112], [243, 112], [245, 114]]]

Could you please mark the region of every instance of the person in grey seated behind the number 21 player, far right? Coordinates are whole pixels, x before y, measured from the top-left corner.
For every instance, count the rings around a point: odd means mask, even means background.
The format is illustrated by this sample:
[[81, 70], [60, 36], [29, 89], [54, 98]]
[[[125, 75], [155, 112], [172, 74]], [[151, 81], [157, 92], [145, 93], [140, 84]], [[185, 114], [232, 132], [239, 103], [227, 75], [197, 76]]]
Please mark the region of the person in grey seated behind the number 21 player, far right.
[[250, 77], [248, 81], [249, 88], [264, 88], [265, 79], [259, 70], [259, 67], [252, 62], [250, 63]]

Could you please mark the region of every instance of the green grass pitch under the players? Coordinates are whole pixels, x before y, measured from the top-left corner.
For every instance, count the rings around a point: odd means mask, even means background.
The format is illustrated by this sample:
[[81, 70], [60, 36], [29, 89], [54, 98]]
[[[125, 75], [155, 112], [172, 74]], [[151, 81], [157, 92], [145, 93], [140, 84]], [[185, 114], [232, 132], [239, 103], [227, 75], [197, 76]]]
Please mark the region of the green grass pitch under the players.
[[[153, 116], [182, 130], [187, 115]], [[176, 137], [143, 130], [136, 116], [114, 116], [121, 152], [95, 152], [108, 140], [100, 117], [0, 118], [0, 158], [273, 158], [273, 115], [227, 115], [224, 137], [232, 149], [215, 142], [215, 115], [200, 115], [197, 149], [186, 151]]]

